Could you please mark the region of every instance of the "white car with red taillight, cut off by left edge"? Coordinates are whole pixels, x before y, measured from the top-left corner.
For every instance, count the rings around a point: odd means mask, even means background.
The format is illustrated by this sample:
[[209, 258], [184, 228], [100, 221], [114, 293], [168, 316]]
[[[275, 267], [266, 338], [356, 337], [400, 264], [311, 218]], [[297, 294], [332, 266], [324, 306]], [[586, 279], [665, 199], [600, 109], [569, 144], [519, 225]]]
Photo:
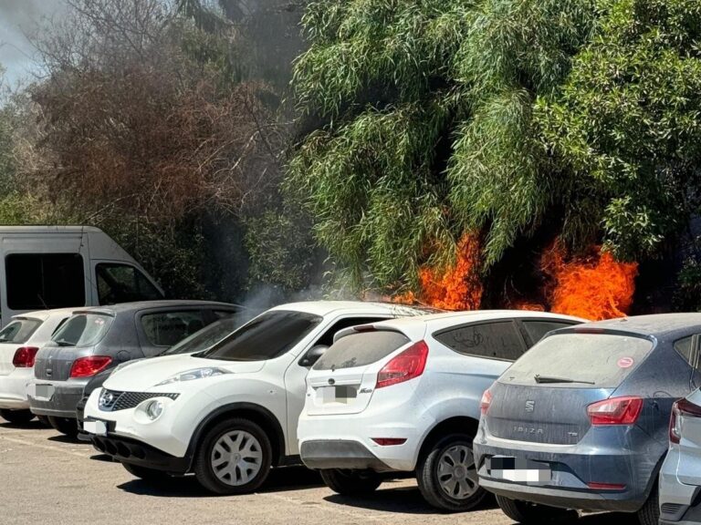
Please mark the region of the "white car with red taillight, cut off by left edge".
[[0, 416], [12, 423], [34, 419], [26, 388], [34, 379], [34, 362], [75, 308], [43, 310], [16, 315], [0, 330]]

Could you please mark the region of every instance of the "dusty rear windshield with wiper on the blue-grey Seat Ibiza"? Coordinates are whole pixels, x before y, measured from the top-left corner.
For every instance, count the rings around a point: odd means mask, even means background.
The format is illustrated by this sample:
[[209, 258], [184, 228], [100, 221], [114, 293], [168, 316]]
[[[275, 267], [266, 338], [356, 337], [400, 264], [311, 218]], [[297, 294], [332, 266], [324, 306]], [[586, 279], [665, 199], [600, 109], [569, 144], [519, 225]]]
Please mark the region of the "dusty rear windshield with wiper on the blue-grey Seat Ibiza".
[[650, 355], [653, 343], [619, 334], [551, 335], [499, 381], [507, 385], [616, 388]]

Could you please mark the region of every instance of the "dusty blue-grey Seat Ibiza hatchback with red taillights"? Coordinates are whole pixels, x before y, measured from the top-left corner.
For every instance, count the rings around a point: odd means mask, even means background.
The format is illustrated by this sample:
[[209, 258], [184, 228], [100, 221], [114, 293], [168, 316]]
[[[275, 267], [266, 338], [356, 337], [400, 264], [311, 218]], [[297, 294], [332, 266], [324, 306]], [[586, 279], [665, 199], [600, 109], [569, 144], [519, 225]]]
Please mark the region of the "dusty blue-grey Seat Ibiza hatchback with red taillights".
[[669, 418], [699, 379], [699, 333], [701, 314], [662, 314], [547, 335], [483, 397], [480, 484], [522, 523], [613, 510], [656, 525]]

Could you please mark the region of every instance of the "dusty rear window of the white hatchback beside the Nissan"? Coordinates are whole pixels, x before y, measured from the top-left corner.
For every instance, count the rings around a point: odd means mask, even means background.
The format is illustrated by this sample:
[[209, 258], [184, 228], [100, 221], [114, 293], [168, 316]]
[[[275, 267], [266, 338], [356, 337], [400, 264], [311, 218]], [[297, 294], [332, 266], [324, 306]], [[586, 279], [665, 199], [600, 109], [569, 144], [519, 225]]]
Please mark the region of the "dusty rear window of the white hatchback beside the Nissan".
[[340, 370], [377, 363], [407, 343], [406, 335], [388, 330], [346, 335], [331, 345], [314, 365], [314, 370]]

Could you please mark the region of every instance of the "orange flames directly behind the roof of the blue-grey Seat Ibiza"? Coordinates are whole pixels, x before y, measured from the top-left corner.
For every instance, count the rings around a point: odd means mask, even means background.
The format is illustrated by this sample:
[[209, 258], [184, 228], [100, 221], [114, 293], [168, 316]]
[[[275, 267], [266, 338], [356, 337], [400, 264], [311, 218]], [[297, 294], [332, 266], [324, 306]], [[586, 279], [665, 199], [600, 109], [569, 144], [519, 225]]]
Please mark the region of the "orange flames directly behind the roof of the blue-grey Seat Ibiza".
[[552, 312], [599, 321], [623, 317], [633, 305], [638, 263], [617, 262], [601, 246], [566, 262], [564, 248], [555, 242], [543, 253], [541, 268], [552, 279]]

